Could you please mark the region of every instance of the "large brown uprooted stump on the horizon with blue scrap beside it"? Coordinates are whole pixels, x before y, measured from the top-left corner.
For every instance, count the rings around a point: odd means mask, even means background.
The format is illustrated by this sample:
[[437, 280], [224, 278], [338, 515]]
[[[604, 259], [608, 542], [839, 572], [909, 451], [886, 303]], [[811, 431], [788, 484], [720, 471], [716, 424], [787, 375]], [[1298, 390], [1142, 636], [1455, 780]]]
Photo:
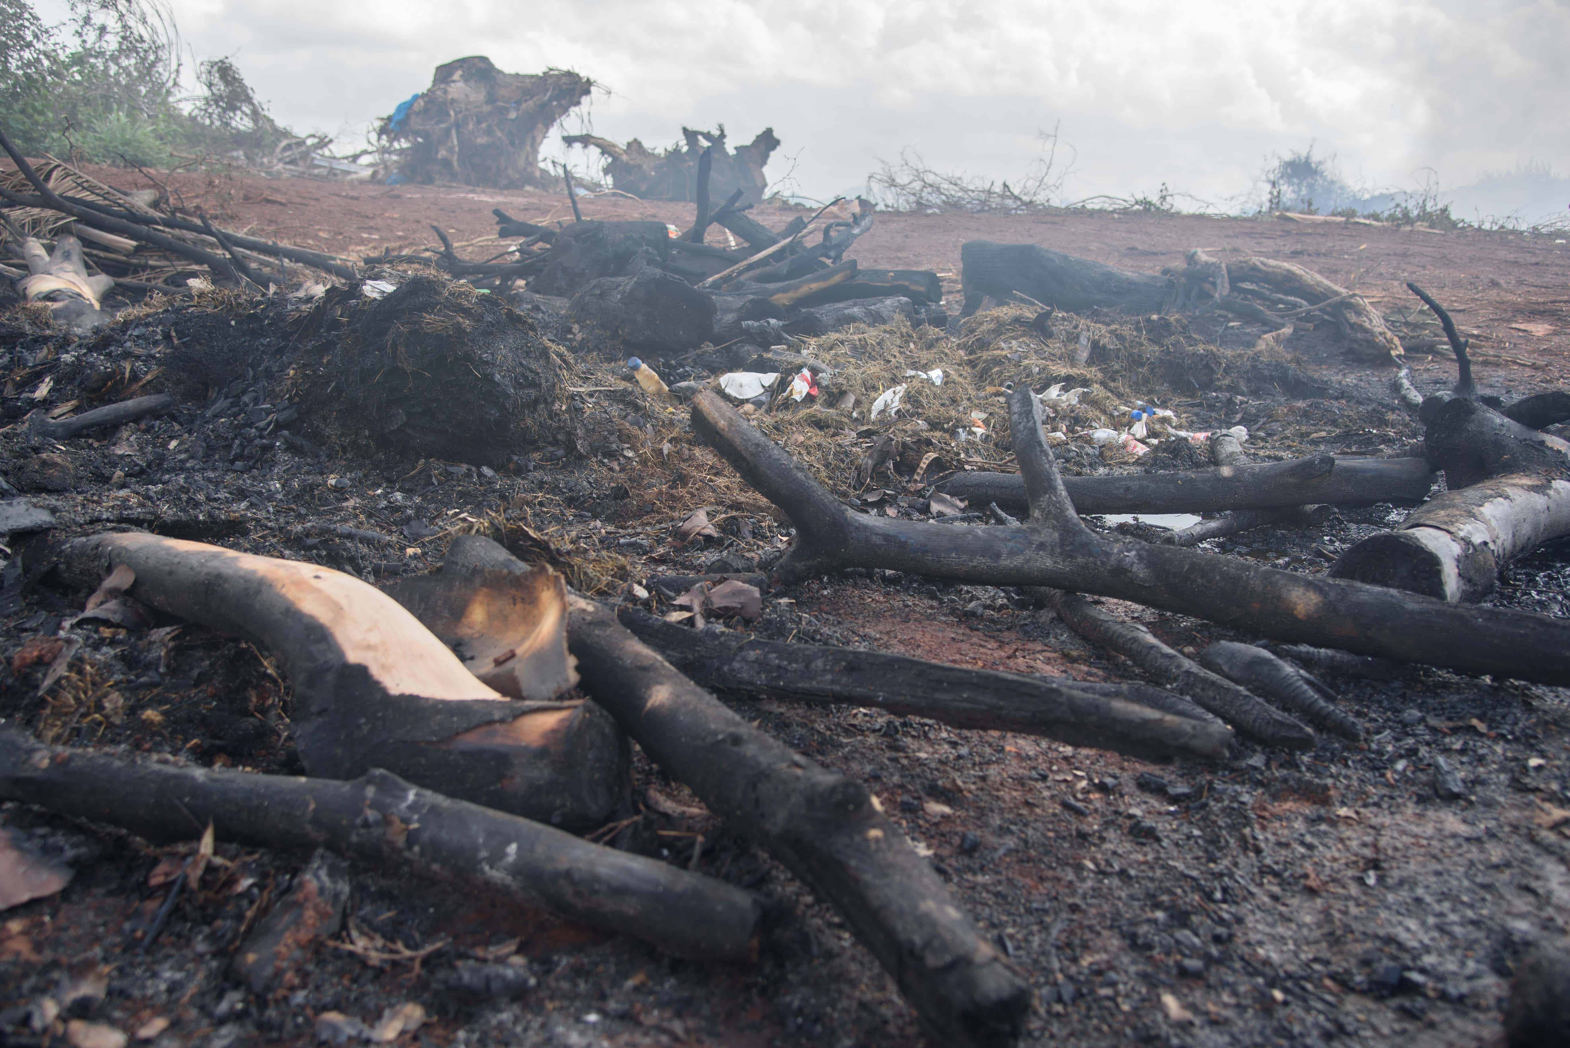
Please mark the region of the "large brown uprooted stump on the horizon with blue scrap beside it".
[[540, 144], [592, 88], [576, 72], [526, 75], [484, 55], [458, 58], [436, 66], [430, 86], [378, 135], [402, 149], [399, 174], [410, 182], [540, 187]]

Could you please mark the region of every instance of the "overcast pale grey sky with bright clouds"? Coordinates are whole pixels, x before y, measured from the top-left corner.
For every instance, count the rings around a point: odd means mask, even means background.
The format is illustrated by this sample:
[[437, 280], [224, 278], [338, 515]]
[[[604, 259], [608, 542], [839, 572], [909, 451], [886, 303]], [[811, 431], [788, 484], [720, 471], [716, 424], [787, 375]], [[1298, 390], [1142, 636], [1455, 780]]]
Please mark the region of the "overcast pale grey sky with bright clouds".
[[[47, 13], [57, 0], [41, 0]], [[171, 0], [297, 130], [352, 132], [488, 55], [601, 85], [597, 133], [669, 144], [772, 126], [769, 174], [857, 188], [879, 158], [1017, 179], [1053, 127], [1069, 198], [1162, 182], [1218, 206], [1270, 152], [1371, 188], [1529, 160], [1570, 171], [1570, 0]], [[568, 116], [568, 133], [582, 130]], [[579, 162], [582, 154], [579, 152]], [[1561, 206], [1562, 207], [1562, 206]]]

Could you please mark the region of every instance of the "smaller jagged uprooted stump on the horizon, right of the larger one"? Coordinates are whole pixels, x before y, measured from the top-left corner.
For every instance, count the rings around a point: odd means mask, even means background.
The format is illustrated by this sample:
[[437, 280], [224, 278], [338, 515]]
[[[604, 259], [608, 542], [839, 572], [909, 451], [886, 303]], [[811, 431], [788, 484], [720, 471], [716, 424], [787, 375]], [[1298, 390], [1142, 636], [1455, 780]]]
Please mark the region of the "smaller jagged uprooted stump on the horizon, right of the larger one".
[[[763, 129], [757, 138], [732, 152], [725, 146], [725, 130], [717, 132], [681, 129], [681, 144], [666, 151], [652, 151], [639, 140], [620, 146], [597, 135], [564, 135], [568, 146], [593, 146], [604, 157], [604, 173], [611, 185], [647, 201], [696, 201], [699, 187], [699, 163], [710, 152], [710, 193], [728, 196], [741, 190], [741, 202], [761, 204], [768, 190], [763, 166], [779, 149], [780, 140], [774, 129]], [[738, 234], [741, 235], [741, 234]]]

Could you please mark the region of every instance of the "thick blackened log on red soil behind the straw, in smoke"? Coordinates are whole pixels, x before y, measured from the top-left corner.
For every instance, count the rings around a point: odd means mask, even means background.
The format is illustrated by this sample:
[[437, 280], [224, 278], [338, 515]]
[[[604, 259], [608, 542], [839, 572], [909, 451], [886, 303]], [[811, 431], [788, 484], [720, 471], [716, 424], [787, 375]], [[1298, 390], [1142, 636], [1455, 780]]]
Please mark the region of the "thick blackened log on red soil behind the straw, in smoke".
[[1165, 276], [1119, 270], [1033, 243], [970, 240], [959, 248], [959, 265], [962, 317], [980, 309], [989, 295], [1000, 301], [1027, 295], [1042, 306], [1072, 312], [1101, 306], [1152, 314], [1162, 311], [1171, 293]]

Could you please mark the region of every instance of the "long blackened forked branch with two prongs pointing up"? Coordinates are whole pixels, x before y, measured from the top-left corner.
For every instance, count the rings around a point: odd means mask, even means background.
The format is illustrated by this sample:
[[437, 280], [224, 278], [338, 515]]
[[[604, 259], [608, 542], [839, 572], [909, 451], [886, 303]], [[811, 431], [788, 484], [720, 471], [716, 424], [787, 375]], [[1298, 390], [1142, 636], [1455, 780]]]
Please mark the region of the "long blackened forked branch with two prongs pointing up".
[[694, 397], [692, 424], [796, 526], [796, 544], [776, 566], [783, 579], [859, 566], [989, 585], [1049, 585], [1276, 640], [1570, 682], [1570, 623], [1546, 615], [1457, 607], [1090, 532], [1074, 515], [1027, 386], [1010, 394], [1010, 425], [1036, 527], [951, 527], [853, 515], [716, 394]]

